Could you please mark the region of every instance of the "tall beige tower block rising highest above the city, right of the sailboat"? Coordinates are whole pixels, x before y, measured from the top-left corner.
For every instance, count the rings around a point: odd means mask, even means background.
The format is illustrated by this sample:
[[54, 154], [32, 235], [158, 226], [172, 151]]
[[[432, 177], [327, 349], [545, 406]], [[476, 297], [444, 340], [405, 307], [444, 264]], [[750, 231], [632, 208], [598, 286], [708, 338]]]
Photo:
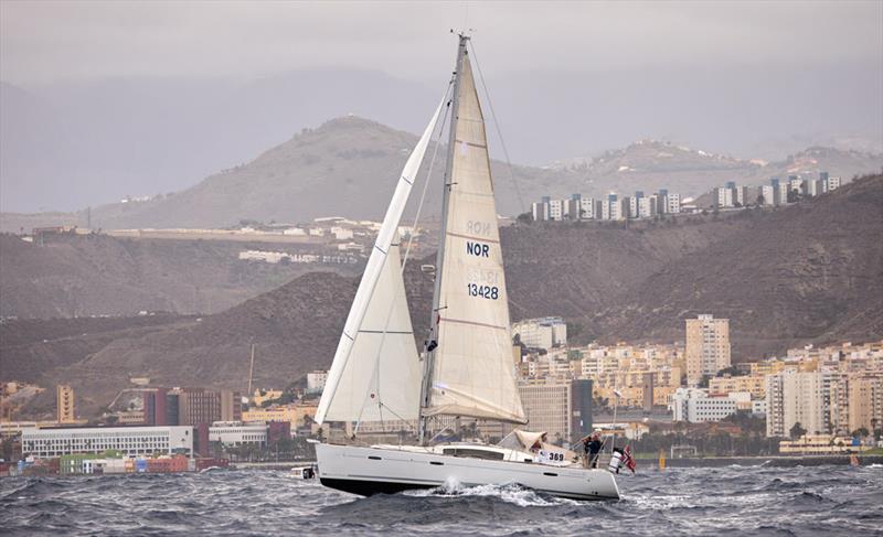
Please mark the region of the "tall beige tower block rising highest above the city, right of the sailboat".
[[698, 385], [703, 376], [713, 376], [730, 367], [730, 320], [703, 314], [687, 322], [687, 382]]

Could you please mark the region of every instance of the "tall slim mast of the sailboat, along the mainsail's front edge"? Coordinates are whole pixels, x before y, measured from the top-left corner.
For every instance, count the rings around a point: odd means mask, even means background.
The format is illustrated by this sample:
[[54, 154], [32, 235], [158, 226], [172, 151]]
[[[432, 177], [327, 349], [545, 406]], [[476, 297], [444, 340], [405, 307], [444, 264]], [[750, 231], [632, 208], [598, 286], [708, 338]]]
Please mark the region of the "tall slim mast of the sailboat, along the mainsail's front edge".
[[438, 315], [440, 315], [442, 304], [442, 271], [445, 265], [445, 236], [447, 234], [448, 224], [448, 197], [450, 196], [450, 189], [454, 186], [454, 151], [456, 150], [457, 139], [457, 121], [460, 108], [460, 74], [462, 73], [462, 58], [466, 55], [466, 43], [469, 36], [462, 33], [458, 34], [459, 43], [457, 45], [457, 62], [454, 71], [454, 89], [450, 105], [450, 125], [448, 126], [448, 154], [447, 163], [445, 165], [445, 182], [443, 185], [442, 197], [442, 232], [438, 240], [438, 251], [436, 253], [435, 261], [435, 286], [433, 289], [433, 309], [429, 312], [429, 340], [426, 347], [426, 359], [423, 363], [423, 383], [421, 385], [421, 408], [419, 408], [419, 443], [423, 444], [426, 439], [426, 417], [423, 416], [424, 407], [429, 404], [429, 390], [432, 387], [433, 362], [435, 359], [435, 348], [437, 346], [436, 339], [438, 337]]

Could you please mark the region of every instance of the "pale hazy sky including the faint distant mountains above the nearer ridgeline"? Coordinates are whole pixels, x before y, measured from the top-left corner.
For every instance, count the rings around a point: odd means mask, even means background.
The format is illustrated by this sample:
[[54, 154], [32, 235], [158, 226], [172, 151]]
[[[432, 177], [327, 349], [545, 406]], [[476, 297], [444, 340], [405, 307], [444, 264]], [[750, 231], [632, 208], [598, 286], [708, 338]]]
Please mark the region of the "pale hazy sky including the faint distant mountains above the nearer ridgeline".
[[880, 152], [881, 21], [879, 1], [0, 2], [0, 211], [178, 191], [349, 112], [418, 131], [450, 28], [476, 29], [517, 163], [639, 138]]

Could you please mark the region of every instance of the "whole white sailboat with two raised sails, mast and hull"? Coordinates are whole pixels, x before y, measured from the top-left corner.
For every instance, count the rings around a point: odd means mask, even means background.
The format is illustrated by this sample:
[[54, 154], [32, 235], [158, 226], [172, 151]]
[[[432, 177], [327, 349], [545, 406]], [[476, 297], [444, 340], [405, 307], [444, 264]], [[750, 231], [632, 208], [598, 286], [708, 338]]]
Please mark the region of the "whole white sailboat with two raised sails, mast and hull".
[[[413, 422], [418, 442], [360, 444], [358, 433], [345, 441], [319, 442], [318, 476], [326, 486], [364, 496], [451, 484], [518, 484], [568, 498], [618, 498], [610, 472], [563, 460], [542, 443], [540, 433], [515, 430], [499, 444], [427, 439], [430, 425], [446, 418], [526, 422], [512, 359], [485, 118], [468, 43], [469, 36], [459, 34], [447, 92], [397, 179], [316, 415], [320, 426], [355, 423], [357, 431], [362, 422]], [[443, 116], [450, 123], [442, 236], [429, 337], [418, 352], [397, 229]]]

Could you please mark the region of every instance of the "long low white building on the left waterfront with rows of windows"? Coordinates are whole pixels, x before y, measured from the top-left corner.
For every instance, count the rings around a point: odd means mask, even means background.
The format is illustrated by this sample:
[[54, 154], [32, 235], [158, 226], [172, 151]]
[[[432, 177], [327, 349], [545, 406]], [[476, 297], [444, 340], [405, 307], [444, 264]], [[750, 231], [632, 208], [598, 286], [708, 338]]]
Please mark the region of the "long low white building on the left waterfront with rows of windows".
[[193, 453], [193, 428], [164, 427], [47, 427], [28, 428], [21, 433], [23, 455], [38, 459], [74, 453], [104, 453], [113, 450], [124, 457], [152, 453]]

